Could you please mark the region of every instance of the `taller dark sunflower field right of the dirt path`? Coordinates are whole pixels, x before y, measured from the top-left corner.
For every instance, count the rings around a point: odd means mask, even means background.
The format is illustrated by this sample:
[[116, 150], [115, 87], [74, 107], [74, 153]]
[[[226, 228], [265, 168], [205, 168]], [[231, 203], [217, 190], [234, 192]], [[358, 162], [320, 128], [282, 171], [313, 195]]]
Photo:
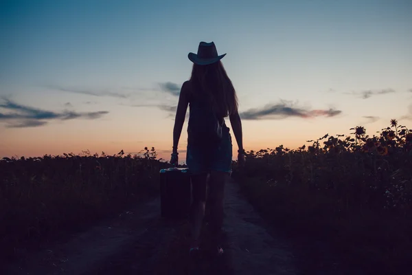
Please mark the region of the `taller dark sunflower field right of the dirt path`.
[[[251, 203], [292, 234], [319, 236], [370, 266], [412, 259], [412, 129], [356, 126], [295, 150], [247, 152], [233, 177]], [[234, 164], [236, 167], [236, 164]]]

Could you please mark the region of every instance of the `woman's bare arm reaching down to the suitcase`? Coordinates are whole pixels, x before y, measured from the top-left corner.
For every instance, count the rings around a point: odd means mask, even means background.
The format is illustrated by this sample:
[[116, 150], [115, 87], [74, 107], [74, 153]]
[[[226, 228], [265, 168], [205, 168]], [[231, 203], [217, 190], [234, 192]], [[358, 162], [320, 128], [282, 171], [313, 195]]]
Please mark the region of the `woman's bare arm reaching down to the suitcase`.
[[190, 83], [185, 81], [181, 87], [179, 95], [179, 103], [176, 109], [176, 118], [174, 119], [173, 128], [173, 153], [177, 153], [177, 146], [182, 133], [183, 123], [185, 123], [185, 116], [187, 111], [187, 105], [189, 104]]

